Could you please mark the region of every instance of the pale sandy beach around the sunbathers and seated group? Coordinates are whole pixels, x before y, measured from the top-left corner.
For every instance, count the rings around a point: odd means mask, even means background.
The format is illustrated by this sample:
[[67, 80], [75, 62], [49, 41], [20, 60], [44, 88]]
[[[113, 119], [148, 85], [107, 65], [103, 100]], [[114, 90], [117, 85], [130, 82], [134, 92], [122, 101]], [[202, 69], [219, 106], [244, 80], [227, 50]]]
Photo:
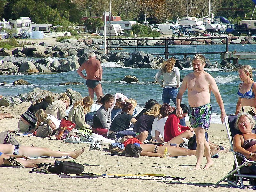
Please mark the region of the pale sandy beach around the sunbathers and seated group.
[[[1, 112], [12, 112], [15, 118], [0, 120], [0, 131], [17, 128], [20, 115], [30, 106], [21, 103], [15, 106], [0, 107]], [[189, 124], [189, 122], [187, 122]], [[225, 126], [211, 124], [209, 138], [225, 148], [229, 141]], [[220, 153], [214, 158], [214, 166], [208, 170], [193, 170], [196, 156], [179, 158], [140, 158], [110, 156], [104, 151], [88, 151], [89, 144], [64, 144], [63, 141], [38, 137], [14, 136], [22, 145], [48, 147], [52, 150], [72, 151], [86, 147], [85, 152], [76, 158], [76, 162], [84, 164], [84, 172], [99, 174], [166, 174], [172, 177], [185, 177], [182, 181], [111, 179], [111, 178], [60, 178], [55, 174], [29, 173], [31, 168], [0, 167], [0, 191], [244, 191], [229, 188], [226, 182], [220, 187], [215, 183], [224, 177], [233, 167], [232, 153]], [[102, 146], [103, 147], [103, 146]], [[206, 160], [203, 159], [202, 168]], [[246, 189], [249, 190], [249, 189]]]

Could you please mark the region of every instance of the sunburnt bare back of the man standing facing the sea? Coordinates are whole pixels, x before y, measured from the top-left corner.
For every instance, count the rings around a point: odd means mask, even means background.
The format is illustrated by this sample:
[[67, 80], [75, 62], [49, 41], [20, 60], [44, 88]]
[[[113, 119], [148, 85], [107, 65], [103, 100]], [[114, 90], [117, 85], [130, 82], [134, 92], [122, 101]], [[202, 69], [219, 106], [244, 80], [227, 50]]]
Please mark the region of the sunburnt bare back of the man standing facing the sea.
[[101, 80], [99, 66], [100, 61], [94, 58], [90, 58], [88, 61], [84, 62], [81, 67], [86, 71], [86, 79]]

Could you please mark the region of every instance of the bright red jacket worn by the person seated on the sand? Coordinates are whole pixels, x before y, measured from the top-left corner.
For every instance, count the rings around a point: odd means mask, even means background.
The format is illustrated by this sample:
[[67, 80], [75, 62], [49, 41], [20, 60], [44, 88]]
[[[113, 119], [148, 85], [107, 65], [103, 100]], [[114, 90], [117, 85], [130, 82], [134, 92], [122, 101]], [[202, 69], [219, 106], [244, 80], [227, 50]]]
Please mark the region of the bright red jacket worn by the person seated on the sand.
[[164, 141], [168, 142], [189, 129], [188, 126], [180, 125], [180, 118], [176, 114], [170, 114], [164, 125]]

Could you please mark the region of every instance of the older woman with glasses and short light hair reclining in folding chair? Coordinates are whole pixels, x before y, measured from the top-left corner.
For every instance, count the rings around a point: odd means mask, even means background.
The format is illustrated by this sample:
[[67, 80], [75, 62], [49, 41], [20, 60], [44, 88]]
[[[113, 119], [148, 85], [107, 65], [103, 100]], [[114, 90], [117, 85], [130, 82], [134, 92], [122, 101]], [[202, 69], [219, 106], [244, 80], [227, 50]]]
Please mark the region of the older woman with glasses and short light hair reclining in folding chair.
[[235, 152], [239, 152], [248, 159], [256, 160], [256, 134], [252, 133], [256, 122], [249, 113], [241, 113], [238, 115], [235, 128], [242, 133], [236, 134], [233, 138], [233, 148]]

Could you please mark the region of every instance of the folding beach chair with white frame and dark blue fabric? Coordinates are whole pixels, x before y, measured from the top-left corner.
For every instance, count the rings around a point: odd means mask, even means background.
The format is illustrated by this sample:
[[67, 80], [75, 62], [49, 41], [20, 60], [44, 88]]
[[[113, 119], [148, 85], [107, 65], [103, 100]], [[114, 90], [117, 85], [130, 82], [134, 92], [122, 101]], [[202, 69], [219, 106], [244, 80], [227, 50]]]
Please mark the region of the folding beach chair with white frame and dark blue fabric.
[[[230, 187], [237, 187], [237, 188], [244, 188], [243, 181], [249, 181], [249, 184], [252, 186], [256, 186], [256, 174], [253, 173], [249, 168], [248, 165], [255, 164], [255, 161], [248, 160], [243, 154], [235, 152], [233, 150], [233, 137], [236, 134], [241, 134], [239, 130], [235, 129], [235, 122], [237, 116], [228, 115], [225, 117], [224, 122], [228, 133], [228, 138], [231, 146], [231, 152], [234, 155], [235, 163], [233, 170], [228, 173], [227, 176], [222, 178], [220, 181], [217, 182], [216, 185], [219, 185], [220, 182], [226, 181], [228, 182], [228, 186]], [[254, 119], [256, 119], [254, 117]], [[252, 132], [255, 133], [255, 128], [253, 128]]]

